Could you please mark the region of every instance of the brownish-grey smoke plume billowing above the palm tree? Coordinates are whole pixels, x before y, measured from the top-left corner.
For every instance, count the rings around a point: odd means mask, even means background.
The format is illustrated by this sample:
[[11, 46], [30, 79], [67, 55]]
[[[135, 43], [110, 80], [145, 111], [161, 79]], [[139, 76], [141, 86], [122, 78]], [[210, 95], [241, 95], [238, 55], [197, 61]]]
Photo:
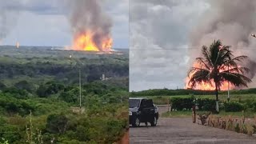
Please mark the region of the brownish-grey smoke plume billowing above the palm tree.
[[[208, 2], [208, 1], [207, 1]], [[254, 78], [256, 73], [256, 1], [246, 0], [210, 0], [210, 9], [202, 15], [199, 25], [190, 34], [191, 60], [198, 57], [203, 45], [210, 46], [214, 39], [220, 39], [224, 45], [231, 46], [234, 55], [247, 55], [250, 58], [246, 66]], [[190, 65], [191, 66], [191, 65]], [[250, 86], [256, 86], [254, 83]]]

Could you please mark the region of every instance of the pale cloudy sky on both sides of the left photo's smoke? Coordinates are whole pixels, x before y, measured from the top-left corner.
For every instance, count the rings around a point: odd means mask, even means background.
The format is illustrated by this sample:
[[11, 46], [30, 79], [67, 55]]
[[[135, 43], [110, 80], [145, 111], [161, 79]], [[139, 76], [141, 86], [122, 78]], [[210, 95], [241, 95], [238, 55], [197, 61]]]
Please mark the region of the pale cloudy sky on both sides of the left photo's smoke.
[[[0, 0], [0, 29], [6, 33], [0, 45], [18, 41], [23, 46], [70, 46], [72, 34], [63, 2]], [[104, 0], [103, 6], [113, 19], [114, 48], [128, 48], [128, 0]]]

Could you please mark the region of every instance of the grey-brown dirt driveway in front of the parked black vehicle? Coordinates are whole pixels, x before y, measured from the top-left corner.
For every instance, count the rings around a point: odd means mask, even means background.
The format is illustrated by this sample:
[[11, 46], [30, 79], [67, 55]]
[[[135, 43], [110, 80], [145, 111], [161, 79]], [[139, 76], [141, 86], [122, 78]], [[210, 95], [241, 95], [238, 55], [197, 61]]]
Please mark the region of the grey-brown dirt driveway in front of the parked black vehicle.
[[[166, 108], [161, 107], [161, 113]], [[130, 127], [130, 143], [234, 143], [255, 144], [256, 138], [246, 134], [192, 123], [191, 118], [159, 118], [155, 127]]]

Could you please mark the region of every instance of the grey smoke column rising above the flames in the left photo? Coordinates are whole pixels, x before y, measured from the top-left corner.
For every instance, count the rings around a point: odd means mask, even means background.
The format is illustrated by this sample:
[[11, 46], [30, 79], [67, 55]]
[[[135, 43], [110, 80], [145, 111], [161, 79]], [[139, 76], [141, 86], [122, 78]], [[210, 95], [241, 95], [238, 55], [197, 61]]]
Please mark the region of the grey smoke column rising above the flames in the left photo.
[[90, 30], [94, 32], [93, 40], [97, 46], [102, 48], [102, 40], [110, 37], [112, 20], [102, 11], [100, 0], [72, 0], [70, 6], [70, 26], [74, 37]]

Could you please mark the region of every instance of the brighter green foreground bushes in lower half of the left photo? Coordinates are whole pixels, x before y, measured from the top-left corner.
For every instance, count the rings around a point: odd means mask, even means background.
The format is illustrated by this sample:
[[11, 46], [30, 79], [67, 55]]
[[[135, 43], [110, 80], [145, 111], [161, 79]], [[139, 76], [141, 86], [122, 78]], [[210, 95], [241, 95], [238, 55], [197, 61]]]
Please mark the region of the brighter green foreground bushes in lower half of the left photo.
[[70, 107], [78, 106], [78, 86], [45, 84], [48, 95], [43, 98], [23, 97], [27, 92], [16, 88], [0, 91], [0, 138], [11, 143], [26, 142], [30, 110], [34, 132], [42, 130], [40, 134], [46, 143], [53, 138], [59, 143], [113, 143], [126, 130], [128, 92], [122, 87], [101, 82], [82, 86], [82, 106], [86, 112], [76, 114]]

